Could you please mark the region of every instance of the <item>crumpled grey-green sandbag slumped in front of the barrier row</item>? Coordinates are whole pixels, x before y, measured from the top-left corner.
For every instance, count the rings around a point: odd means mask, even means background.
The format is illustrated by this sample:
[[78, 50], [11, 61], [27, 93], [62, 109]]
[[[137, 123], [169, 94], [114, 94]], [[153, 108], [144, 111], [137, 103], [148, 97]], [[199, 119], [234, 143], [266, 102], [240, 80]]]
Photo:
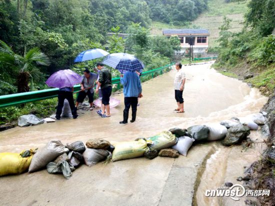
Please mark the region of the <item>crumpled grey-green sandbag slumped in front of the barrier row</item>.
[[65, 178], [69, 178], [71, 176], [71, 171], [74, 170], [74, 167], [69, 165], [69, 163], [65, 160], [55, 162], [49, 162], [47, 164], [47, 172], [50, 174], [55, 173], [63, 173]]

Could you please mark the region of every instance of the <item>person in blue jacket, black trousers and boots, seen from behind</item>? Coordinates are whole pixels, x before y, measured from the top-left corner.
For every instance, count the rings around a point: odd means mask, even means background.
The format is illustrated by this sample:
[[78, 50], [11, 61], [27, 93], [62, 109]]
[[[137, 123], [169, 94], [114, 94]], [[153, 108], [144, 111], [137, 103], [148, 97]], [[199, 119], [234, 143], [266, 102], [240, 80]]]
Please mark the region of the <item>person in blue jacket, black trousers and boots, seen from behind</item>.
[[120, 83], [123, 85], [125, 108], [123, 110], [123, 121], [119, 121], [119, 123], [128, 123], [130, 107], [132, 107], [132, 119], [130, 122], [134, 122], [136, 118], [137, 98], [142, 97], [139, 76], [136, 72], [126, 71], [124, 76], [120, 75]]

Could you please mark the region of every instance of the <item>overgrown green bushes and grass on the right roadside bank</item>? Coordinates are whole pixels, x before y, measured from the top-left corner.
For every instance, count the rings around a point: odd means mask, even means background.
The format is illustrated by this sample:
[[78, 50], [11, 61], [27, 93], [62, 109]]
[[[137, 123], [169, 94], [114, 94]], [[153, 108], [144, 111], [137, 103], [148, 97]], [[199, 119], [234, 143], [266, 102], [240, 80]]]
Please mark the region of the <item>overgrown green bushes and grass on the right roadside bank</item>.
[[275, 25], [274, 1], [251, 0], [240, 32], [229, 31], [230, 21], [224, 17], [219, 27], [219, 56], [214, 66], [238, 72], [237, 68], [246, 64], [246, 72], [256, 74], [247, 82], [272, 92], [275, 86], [275, 35], [271, 34]]

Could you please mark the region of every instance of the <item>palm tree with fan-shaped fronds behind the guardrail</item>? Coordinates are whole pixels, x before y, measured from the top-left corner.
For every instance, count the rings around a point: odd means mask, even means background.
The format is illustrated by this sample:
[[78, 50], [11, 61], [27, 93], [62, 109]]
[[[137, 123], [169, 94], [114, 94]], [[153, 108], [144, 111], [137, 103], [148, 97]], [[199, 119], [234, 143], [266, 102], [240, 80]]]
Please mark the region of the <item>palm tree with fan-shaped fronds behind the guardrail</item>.
[[3, 71], [17, 74], [17, 92], [29, 91], [30, 87], [33, 89], [33, 80], [39, 79], [42, 76], [37, 65], [49, 65], [49, 58], [40, 51], [39, 48], [32, 48], [23, 56], [15, 54], [12, 49], [3, 41], [0, 40], [0, 63]]

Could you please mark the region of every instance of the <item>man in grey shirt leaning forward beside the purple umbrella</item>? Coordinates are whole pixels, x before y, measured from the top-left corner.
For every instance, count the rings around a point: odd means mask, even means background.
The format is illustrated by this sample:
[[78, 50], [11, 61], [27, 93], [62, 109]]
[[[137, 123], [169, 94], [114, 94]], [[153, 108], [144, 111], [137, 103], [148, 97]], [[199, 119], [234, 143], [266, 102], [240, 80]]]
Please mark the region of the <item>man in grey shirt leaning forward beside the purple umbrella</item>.
[[89, 103], [90, 103], [90, 108], [89, 110], [93, 110], [92, 108], [92, 103], [93, 103], [93, 87], [94, 87], [94, 82], [97, 80], [97, 74], [90, 72], [88, 69], [85, 69], [83, 71], [82, 75], [82, 80], [81, 80], [81, 90], [79, 91], [77, 98], [76, 98], [76, 103], [75, 107], [77, 108], [79, 103], [82, 103], [84, 98], [88, 96], [89, 98]]

